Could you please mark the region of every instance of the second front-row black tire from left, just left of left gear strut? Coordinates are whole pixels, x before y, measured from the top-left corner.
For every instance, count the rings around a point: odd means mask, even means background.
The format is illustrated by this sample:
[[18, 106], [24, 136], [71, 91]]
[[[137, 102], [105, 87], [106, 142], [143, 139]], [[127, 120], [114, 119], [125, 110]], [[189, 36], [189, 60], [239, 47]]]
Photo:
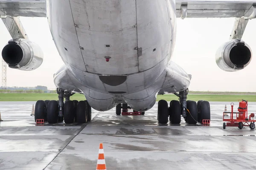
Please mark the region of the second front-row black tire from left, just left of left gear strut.
[[47, 106], [48, 123], [54, 124], [58, 122], [58, 103], [56, 100], [51, 100]]

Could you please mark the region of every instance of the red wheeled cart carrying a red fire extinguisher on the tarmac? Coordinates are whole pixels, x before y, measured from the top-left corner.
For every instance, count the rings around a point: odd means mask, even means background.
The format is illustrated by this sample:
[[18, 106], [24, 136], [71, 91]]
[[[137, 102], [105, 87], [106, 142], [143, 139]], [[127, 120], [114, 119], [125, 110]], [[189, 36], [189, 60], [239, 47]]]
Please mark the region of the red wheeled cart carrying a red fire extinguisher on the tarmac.
[[[231, 103], [231, 112], [223, 112], [223, 129], [227, 126], [239, 127], [242, 129], [244, 126], [249, 126], [250, 129], [255, 128], [255, 120], [253, 120], [254, 113], [251, 113], [248, 119], [248, 102], [245, 100], [239, 100], [238, 112], [233, 112], [234, 103]], [[224, 119], [224, 114], [230, 113], [227, 119]], [[226, 114], [227, 115], [227, 114]], [[225, 123], [227, 122], [227, 124]], [[250, 124], [249, 124], [250, 122]]]

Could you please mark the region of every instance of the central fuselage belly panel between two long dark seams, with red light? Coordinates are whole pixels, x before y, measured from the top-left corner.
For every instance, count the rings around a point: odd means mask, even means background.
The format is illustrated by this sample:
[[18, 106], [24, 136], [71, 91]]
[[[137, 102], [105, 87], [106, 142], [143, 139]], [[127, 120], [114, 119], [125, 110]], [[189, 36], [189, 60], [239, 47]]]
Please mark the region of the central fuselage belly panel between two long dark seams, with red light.
[[109, 75], [138, 72], [136, 1], [73, 0], [70, 4], [87, 71]]

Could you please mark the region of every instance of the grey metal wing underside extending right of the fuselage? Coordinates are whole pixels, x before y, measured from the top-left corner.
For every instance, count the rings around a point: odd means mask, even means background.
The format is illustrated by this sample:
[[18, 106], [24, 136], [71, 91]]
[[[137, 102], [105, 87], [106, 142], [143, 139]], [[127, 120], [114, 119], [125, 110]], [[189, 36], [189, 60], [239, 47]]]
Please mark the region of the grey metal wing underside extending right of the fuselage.
[[255, 8], [256, 0], [176, 0], [176, 15], [180, 18], [250, 19], [256, 16]]

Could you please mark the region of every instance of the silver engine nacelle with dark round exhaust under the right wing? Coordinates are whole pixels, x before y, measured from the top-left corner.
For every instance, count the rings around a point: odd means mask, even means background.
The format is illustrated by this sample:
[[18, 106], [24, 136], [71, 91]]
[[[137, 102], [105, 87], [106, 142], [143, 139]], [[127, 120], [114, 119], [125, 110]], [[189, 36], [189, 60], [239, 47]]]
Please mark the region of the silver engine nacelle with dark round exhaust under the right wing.
[[243, 40], [231, 40], [218, 48], [215, 56], [219, 68], [224, 71], [239, 71], [249, 65], [252, 51]]

